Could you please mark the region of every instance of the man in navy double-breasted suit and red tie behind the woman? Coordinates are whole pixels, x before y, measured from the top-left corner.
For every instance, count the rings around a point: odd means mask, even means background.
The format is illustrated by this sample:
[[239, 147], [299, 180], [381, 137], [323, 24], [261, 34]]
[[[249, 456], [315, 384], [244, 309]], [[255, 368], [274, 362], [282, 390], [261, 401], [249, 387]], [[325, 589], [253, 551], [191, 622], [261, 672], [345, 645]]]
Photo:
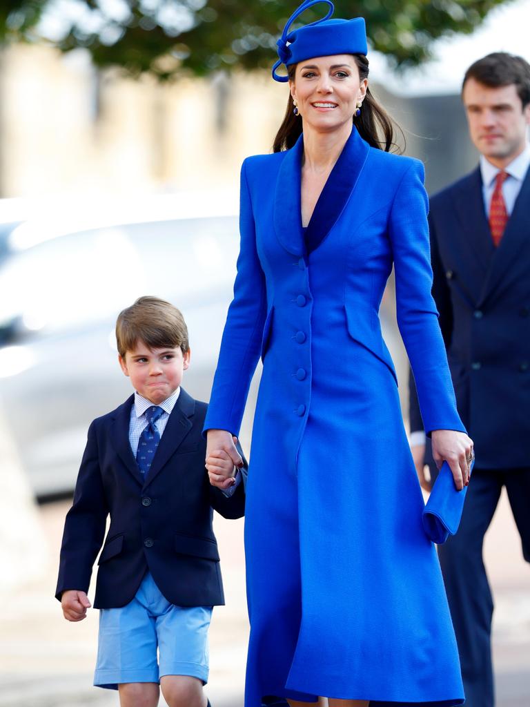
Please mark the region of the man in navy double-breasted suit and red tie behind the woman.
[[[493, 707], [493, 599], [482, 545], [502, 487], [530, 561], [530, 66], [495, 53], [466, 71], [462, 100], [481, 153], [470, 175], [430, 201], [433, 295], [476, 464], [459, 532], [440, 546], [466, 706]], [[411, 381], [411, 446], [425, 457]], [[428, 450], [427, 450], [428, 452]]]

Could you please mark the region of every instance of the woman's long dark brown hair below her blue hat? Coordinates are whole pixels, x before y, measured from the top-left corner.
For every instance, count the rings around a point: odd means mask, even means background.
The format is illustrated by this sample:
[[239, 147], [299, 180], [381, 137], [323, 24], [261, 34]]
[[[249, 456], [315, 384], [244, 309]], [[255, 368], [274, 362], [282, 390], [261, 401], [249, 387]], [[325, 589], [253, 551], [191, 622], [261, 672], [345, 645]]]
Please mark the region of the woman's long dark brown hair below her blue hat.
[[[360, 80], [363, 81], [363, 78], [368, 76], [368, 59], [364, 54], [352, 54], [352, 56], [359, 69]], [[291, 81], [295, 78], [295, 71], [296, 64], [288, 67]], [[289, 94], [287, 110], [285, 110], [283, 122], [273, 142], [274, 152], [281, 152], [293, 147], [300, 134], [302, 134], [302, 119], [300, 115], [293, 113], [294, 107], [293, 97]], [[399, 130], [401, 137], [404, 139], [403, 132], [382, 105], [377, 103], [373, 94], [370, 93], [370, 88], [366, 90], [360, 116], [355, 117], [353, 122], [360, 136], [372, 147], [376, 147], [379, 150], [384, 149], [385, 152], [389, 152], [391, 148], [394, 148], [395, 152], [401, 152], [401, 148], [396, 145], [396, 129]]]

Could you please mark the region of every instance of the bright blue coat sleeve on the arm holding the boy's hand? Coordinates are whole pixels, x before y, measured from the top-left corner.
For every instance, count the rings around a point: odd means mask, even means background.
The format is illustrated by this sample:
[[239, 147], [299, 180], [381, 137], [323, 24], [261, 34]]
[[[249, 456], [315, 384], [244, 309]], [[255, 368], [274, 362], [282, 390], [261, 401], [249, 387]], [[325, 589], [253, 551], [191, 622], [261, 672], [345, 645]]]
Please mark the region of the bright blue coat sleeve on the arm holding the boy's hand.
[[266, 317], [265, 277], [256, 249], [246, 162], [241, 170], [240, 235], [234, 298], [228, 309], [204, 424], [205, 431], [211, 428], [223, 429], [236, 436], [259, 359]]

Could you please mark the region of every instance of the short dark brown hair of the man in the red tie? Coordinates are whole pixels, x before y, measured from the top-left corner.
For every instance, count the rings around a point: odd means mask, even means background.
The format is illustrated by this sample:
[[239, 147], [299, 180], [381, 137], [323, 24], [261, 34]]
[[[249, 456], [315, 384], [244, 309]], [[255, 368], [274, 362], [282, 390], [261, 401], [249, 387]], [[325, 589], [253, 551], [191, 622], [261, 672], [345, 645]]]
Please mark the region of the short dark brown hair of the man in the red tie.
[[466, 71], [462, 90], [469, 78], [490, 88], [514, 84], [523, 107], [530, 103], [530, 64], [522, 57], [507, 52], [493, 52], [471, 64]]

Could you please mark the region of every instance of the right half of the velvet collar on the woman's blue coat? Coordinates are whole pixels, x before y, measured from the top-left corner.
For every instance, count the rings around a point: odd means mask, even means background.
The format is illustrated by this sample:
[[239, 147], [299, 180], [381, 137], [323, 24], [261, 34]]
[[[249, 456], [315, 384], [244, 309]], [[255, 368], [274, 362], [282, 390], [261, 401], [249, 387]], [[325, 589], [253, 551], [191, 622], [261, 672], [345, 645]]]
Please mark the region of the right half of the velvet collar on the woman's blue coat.
[[306, 240], [309, 252], [319, 247], [341, 216], [363, 171], [369, 152], [370, 146], [353, 127], [351, 136], [346, 141], [320, 193], [307, 226]]

